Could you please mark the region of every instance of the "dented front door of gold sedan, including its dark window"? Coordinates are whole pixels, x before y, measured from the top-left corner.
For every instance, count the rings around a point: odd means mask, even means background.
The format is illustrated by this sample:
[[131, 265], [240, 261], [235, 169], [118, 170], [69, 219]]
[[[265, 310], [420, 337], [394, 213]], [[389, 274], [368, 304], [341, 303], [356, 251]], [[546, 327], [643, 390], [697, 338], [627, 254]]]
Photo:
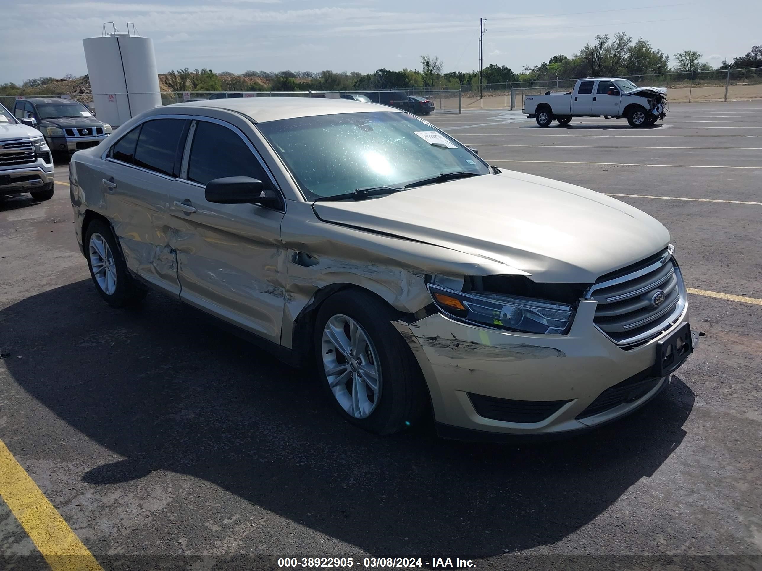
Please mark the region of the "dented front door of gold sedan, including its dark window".
[[209, 180], [252, 177], [277, 190], [245, 135], [229, 123], [194, 120], [181, 178], [171, 189], [171, 246], [180, 297], [190, 305], [280, 343], [285, 303], [283, 212], [204, 198]]

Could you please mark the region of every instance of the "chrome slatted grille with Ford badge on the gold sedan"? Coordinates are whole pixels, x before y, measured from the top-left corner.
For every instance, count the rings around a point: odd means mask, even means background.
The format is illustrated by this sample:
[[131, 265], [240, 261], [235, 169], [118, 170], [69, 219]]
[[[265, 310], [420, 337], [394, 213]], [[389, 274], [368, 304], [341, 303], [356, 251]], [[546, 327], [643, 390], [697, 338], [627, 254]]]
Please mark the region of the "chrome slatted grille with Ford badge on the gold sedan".
[[658, 260], [622, 276], [596, 283], [587, 297], [598, 302], [594, 323], [617, 345], [653, 339], [685, 308], [680, 268], [667, 250]]

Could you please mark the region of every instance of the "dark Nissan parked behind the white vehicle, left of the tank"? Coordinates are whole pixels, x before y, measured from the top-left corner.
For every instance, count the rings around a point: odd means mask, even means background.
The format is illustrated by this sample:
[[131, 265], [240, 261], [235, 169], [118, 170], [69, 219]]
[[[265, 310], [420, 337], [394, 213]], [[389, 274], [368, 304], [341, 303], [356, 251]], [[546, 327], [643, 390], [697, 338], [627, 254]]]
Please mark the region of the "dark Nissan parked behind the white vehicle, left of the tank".
[[111, 133], [108, 123], [96, 119], [87, 107], [70, 99], [19, 99], [14, 116], [34, 119], [53, 152], [73, 153], [94, 147]]

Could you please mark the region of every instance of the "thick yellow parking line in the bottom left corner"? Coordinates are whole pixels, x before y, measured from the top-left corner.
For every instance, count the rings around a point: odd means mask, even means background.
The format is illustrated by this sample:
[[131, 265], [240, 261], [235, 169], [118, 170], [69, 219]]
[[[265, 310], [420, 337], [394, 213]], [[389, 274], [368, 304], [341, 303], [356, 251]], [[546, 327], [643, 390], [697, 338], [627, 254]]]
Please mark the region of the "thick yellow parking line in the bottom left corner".
[[2, 441], [0, 496], [53, 571], [103, 571]]

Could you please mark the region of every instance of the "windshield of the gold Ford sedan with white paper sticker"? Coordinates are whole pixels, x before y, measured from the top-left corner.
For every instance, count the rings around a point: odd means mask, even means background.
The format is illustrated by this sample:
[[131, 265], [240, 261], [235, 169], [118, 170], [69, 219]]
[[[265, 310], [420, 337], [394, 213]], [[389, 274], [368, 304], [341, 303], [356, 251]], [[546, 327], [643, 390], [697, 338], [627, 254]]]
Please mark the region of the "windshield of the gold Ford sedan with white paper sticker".
[[311, 200], [439, 174], [489, 173], [463, 145], [406, 113], [296, 117], [257, 127]]

